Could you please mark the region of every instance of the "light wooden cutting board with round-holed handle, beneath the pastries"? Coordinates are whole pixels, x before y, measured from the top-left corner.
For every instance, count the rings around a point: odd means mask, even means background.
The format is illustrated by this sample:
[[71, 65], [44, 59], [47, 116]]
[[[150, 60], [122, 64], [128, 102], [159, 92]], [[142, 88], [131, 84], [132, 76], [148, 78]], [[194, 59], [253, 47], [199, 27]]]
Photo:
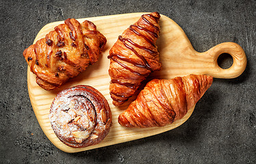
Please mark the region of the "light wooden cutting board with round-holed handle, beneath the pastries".
[[[64, 152], [80, 152], [156, 135], [158, 133], [169, 131], [170, 129], [176, 128], [177, 126], [183, 124], [183, 122], [188, 120], [192, 114], [194, 107], [188, 111], [184, 118], [164, 127], [125, 128], [118, 124], [118, 115], [127, 109], [131, 100], [126, 102], [121, 107], [115, 107], [112, 105], [112, 98], [110, 98], [109, 91], [110, 77], [108, 75], [110, 59], [107, 59], [107, 55], [114, 42], [116, 42], [118, 36], [123, 33], [123, 31], [129, 27], [129, 25], [135, 23], [142, 14], [145, 13], [120, 14], [78, 19], [79, 22], [90, 20], [97, 25], [97, 29], [101, 31], [101, 33], [103, 33], [103, 35], [107, 38], [107, 44], [97, 64], [89, 66], [85, 72], [79, 74], [79, 76], [75, 77], [74, 79], [69, 80], [58, 90], [43, 90], [36, 84], [35, 75], [30, 72], [30, 68], [27, 68], [29, 98], [34, 109], [34, 113], [36, 114], [36, 118], [38, 119], [42, 131], [44, 131], [49, 140], [60, 150], [63, 150]], [[55, 26], [61, 23], [64, 23], [64, 21], [45, 25], [39, 31], [34, 43], [40, 38], [44, 38], [49, 31], [52, 31]], [[175, 23], [172, 19], [161, 15], [160, 27], [161, 32], [159, 39], [157, 40], [157, 46], [160, 53], [160, 60], [162, 62], [162, 70], [153, 72], [149, 79], [171, 79], [173, 77], [187, 74], [208, 74], [216, 78], [228, 79], [238, 77], [240, 74], [242, 74], [246, 67], [246, 55], [238, 44], [233, 42], [225, 42], [214, 46], [212, 49], [209, 49], [209, 51], [198, 53], [193, 49], [190, 40], [188, 40], [181, 27], [179, 27], [179, 25], [177, 25], [177, 23]], [[222, 69], [217, 64], [218, 56], [222, 53], [229, 53], [233, 57], [233, 65], [228, 69]], [[53, 132], [48, 118], [51, 102], [57, 93], [68, 87], [79, 84], [91, 85], [99, 90], [99, 92], [101, 92], [109, 102], [112, 110], [113, 126], [110, 133], [103, 141], [101, 141], [101, 143], [94, 146], [88, 146], [87, 148], [71, 148], [62, 143]], [[135, 97], [131, 99], [134, 100], [134, 98]]]

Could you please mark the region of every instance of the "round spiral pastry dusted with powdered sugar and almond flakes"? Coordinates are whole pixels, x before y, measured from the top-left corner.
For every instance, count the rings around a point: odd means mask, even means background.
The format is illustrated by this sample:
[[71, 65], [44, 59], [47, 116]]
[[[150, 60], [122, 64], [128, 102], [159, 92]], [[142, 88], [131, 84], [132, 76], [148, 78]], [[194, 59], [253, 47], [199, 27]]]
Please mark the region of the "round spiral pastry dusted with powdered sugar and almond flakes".
[[73, 148], [99, 143], [112, 126], [107, 100], [88, 85], [77, 85], [57, 94], [49, 119], [55, 135]]

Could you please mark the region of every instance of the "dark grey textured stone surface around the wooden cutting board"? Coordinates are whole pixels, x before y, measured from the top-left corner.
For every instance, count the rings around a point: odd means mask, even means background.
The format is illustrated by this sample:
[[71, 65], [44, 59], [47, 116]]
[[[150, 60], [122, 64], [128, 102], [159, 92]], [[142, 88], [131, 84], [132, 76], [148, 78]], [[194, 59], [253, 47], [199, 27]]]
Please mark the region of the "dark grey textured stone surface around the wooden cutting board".
[[[1, 163], [256, 163], [255, 0], [10, 0], [1, 1], [0, 11]], [[57, 20], [154, 11], [175, 20], [196, 51], [240, 44], [246, 70], [235, 79], [214, 79], [190, 119], [172, 131], [75, 154], [55, 148], [29, 101], [24, 49]], [[226, 58], [223, 66], [231, 64]]]

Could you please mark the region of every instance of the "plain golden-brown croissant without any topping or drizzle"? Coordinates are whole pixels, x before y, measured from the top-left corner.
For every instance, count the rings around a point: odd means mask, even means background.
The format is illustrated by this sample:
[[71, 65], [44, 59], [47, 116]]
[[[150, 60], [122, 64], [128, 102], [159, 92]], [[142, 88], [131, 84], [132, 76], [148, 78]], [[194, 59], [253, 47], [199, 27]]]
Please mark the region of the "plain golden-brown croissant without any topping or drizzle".
[[213, 78], [207, 75], [153, 79], [119, 115], [118, 122], [137, 128], [170, 124], [183, 118], [188, 109], [196, 105], [212, 81]]

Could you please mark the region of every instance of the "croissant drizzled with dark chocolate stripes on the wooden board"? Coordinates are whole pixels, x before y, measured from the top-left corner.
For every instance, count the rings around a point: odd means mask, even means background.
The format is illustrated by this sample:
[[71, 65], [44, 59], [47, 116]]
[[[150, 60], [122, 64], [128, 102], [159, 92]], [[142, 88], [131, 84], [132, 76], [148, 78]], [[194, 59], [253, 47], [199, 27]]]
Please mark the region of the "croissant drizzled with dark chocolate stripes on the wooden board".
[[159, 37], [159, 18], [157, 12], [142, 15], [110, 49], [110, 96], [114, 105], [123, 104], [151, 72], [161, 68], [155, 45]]

